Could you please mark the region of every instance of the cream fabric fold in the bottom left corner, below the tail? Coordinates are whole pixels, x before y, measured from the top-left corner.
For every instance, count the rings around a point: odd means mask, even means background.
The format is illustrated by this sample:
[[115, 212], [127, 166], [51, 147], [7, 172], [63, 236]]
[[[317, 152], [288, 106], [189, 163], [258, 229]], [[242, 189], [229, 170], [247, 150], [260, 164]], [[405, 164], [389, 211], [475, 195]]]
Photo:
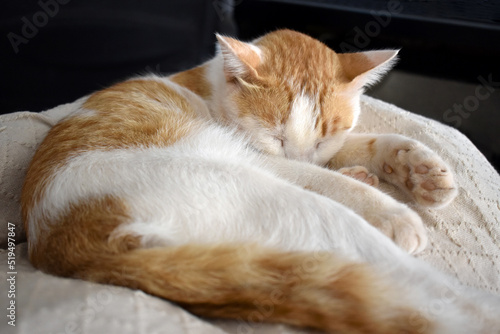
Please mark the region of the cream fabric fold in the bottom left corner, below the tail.
[[[7, 262], [4, 250], [0, 250], [0, 259], [2, 265]], [[3, 334], [224, 333], [142, 291], [43, 274], [28, 262], [27, 243], [16, 247], [16, 260], [17, 321], [14, 328], [2, 319], [0, 332]], [[5, 273], [2, 268], [0, 276]], [[5, 310], [4, 292], [8, 289], [4, 283], [6, 278], [1, 277], [1, 281], [1, 308]]]

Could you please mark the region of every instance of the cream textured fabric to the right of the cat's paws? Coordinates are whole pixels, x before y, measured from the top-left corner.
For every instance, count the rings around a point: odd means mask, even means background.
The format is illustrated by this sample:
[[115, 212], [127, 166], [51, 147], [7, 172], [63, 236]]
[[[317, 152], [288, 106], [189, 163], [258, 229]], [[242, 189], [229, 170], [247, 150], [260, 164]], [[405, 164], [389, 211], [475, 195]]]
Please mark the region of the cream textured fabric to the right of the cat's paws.
[[358, 132], [400, 133], [437, 152], [455, 172], [459, 194], [443, 209], [413, 204], [394, 186], [381, 188], [423, 218], [430, 245], [418, 257], [466, 285], [500, 295], [500, 176], [463, 134], [369, 97]]

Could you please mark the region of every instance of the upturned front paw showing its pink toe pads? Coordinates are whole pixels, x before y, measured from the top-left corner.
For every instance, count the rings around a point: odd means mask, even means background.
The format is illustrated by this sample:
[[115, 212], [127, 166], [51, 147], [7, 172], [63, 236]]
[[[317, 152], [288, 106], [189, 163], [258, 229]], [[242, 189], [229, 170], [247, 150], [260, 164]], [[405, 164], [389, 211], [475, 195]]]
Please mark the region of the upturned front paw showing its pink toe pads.
[[382, 178], [410, 193], [420, 205], [445, 206], [457, 195], [450, 168], [417, 142], [405, 141], [387, 150], [380, 168]]

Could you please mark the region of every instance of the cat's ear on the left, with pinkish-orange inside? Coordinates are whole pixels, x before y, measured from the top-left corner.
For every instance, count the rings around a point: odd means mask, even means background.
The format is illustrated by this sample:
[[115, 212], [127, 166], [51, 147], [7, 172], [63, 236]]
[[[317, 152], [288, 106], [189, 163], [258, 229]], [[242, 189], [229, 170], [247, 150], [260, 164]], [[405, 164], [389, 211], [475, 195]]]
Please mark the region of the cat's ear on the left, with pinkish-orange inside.
[[255, 45], [216, 34], [224, 59], [224, 74], [228, 81], [236, 78], [257, 78], [256, 68], [261, 62], [261, 51]]

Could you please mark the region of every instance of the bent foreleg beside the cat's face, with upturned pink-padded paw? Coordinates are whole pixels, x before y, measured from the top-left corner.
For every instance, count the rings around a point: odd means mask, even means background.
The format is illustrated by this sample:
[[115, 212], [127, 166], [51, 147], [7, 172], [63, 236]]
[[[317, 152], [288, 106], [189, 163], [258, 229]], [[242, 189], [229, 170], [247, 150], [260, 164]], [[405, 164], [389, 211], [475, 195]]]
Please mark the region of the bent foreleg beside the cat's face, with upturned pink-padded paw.
[[328, 166], [364, 166], [425, 206], [440, 207], [457, 195], [446, 163], [422, 143], [396, 134], [350, 134]]

